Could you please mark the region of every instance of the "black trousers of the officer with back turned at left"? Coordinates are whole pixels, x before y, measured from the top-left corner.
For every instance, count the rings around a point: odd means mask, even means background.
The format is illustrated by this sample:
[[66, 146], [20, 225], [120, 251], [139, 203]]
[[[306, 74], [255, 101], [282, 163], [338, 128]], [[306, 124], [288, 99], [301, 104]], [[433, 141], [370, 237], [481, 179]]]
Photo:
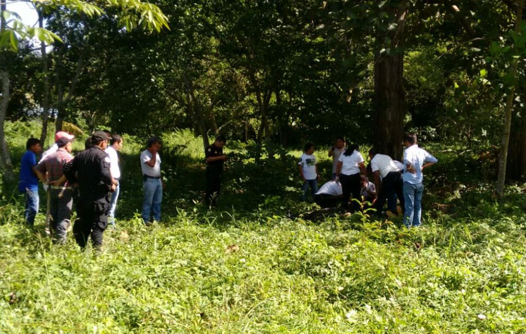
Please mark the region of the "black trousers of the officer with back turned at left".
[[81, 198], [77, 206], [78, 219], [73, 226], [77, 244], [86, 247], [89, 235], [94, 248], [102, 246], [102, 235], [108, 227], [109, 195], [98, 199]]

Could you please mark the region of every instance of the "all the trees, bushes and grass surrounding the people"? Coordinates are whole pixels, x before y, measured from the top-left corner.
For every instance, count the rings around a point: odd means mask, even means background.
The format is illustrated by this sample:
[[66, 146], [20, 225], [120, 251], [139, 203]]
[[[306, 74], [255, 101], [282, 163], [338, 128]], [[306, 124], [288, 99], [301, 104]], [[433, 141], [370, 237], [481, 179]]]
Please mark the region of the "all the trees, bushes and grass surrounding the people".
[[[524, 0], [42, 0], [38, 27], [10, 2], [0, 332], [526, 331]], [[47, 148], [66, 130], [78, 151], [101, 128], [125, 146], [118, 228], [96, 256], [53, 245], [42, 213], [27, 229], [15, 184], [28, 137]], [[400, 159], [403, 132], [439, 159], [423, 228], [303, 215], [306, 141], [327, 179], [337, 135]], [[167, 187], [147, 228], [153, 134]], [[230, 159], [208, 210], [216, 134]]]

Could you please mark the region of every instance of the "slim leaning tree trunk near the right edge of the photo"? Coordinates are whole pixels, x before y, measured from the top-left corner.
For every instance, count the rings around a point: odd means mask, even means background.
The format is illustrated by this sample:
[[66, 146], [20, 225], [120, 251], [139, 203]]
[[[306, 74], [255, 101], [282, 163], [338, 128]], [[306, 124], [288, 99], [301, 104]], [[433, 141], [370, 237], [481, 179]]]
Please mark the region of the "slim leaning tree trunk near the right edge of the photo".
[[[522, 9], [524, 8], [524, 0], [519, 0], [517, 7], [517, 17], [515, 18], [515, 32], [519, 33], [521, 29], [522, 20]], [[519, 59], [513, 58], [511, 62], [510, 75], [517, 79], [517, 67], [519, 65]], [[510, 87], [510, 91], [507, 96], [506, 106], [504, 108], [504, 129], [502, 131], [502, 138], [500, 141], [500, 154], [499, 154], [499, 175], [497, 176], [497, 196], [502, 199], [504, 195], [504, 183], [506, 181], [506, 168], [508, 162], [508, 147], [510, 143], [510, 132], [511, 132], [511, 118], [513, 109], [513, 99], [515, 96], [514, 83]]]

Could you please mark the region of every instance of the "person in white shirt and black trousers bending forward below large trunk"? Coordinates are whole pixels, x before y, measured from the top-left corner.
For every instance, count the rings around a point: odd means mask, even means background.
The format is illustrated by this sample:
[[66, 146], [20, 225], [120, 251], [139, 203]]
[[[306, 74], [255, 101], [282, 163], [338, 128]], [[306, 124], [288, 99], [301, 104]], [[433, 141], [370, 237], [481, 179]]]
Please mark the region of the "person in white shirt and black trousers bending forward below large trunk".
[[[400, 166], [389, 155], [379, 154], [375, 149], [369, 150], [369, 158], [371, 159], [370, 165], [373, 180], [375, 181], [376, 189], [378, 189], [378, 199], [374, 206], [376, 212], [379, 214], [382, 212], [383, 205], [387, 200], [387, 215], [399, 214], [401, 216], [403, 214], [404, 199]], [[400, 201], [400, 210], [397, 207], [397, 198]]]

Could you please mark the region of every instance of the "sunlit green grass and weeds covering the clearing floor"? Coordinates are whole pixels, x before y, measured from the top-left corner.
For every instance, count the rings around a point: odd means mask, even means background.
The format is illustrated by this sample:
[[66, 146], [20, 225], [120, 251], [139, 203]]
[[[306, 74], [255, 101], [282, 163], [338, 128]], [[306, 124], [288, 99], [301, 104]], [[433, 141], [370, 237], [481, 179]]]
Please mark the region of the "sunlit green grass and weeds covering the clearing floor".
[[[25, 228], [21, 199], [3, 192], [0, 332], [526, 332], [519, 186], [498, 205], [459, 171], [442, 191], [437, 165], [423, 228], [360, 215], [310, 222], [289, 218], [312, 208], [285, 189], [299, 184], [295, 158], [256, 166], [250, 144], [231, 143], [225, 194], [207, 211], [194, 203], [204, 186], [199, 139], [183, 131], [165, 135], [164, 221], [147, 228], [137, 218], [141, 145], [127, 144], [122, 219], [98, 256], [71, 237], [51, 244], [42, 214]], [[452, 156], [438, 158], [451, 166]]]

